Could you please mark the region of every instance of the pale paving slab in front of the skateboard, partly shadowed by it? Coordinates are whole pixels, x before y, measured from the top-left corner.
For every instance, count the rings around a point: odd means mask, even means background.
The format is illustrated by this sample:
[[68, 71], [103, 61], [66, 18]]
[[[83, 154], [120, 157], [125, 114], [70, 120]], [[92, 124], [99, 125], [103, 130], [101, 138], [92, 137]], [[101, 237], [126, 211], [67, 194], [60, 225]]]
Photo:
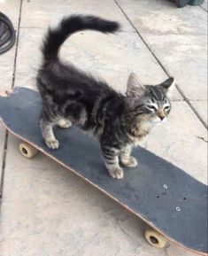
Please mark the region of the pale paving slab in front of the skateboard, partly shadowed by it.
[[143, 221], [39, 154], [24, 159], [9, 136], [1, 256], [194, 256], [174, 244], [158, 250]]

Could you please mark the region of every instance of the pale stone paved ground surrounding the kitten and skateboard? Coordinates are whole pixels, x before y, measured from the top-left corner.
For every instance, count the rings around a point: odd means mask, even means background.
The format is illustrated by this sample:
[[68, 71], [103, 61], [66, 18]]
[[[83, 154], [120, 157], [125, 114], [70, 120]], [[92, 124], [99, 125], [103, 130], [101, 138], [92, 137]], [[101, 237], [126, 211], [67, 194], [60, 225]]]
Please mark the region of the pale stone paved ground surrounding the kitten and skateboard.
[[[123, 26], [118, 35], [78, 33], [65, 43], [62, 57], [122, 92], [132, 71], [147, 83], [173, 75], [179, 88], [173, 90], [173, 112], [143, 146], [207, 183], [205, 10], [207, 1], [177, 9], [166, 0], [6, 0], [0, 12], [12, 19], [19, 40], [0, 56], [0, 89], [35, 89], [42, 35], [62, 15], [118, 20]], [[143, 221], [41, 154], [22, 158], [13, 136], [4, 156], [4, 141], [0, 125], [1, 256], [195, 255], [172, 243], [164, 250], [150, 247]]]

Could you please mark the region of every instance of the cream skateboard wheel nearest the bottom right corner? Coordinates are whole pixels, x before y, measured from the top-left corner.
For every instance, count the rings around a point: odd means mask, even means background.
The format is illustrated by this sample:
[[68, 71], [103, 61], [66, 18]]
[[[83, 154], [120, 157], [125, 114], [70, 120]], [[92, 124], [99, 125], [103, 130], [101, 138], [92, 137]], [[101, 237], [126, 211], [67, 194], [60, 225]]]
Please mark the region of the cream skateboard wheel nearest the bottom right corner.
[[144, 232], [144, 237], [147, 242], [156, 248], [164, 248], [167, 242], [166, 237], [159, 234], [154, 229], [146, 229]]

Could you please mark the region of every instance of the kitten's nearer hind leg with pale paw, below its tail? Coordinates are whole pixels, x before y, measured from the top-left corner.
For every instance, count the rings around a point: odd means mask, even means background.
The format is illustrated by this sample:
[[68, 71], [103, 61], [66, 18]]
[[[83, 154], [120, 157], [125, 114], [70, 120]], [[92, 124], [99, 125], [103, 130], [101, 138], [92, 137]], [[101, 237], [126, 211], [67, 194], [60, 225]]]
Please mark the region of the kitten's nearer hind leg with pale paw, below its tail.
[[42, 137], [45, 140], [45, 144], [47, 144], [47, 146], [52, 150], [58, 149], [59, 143], [53, 134], [54, 122], [41, 119], [40, 126], [42, 130]]

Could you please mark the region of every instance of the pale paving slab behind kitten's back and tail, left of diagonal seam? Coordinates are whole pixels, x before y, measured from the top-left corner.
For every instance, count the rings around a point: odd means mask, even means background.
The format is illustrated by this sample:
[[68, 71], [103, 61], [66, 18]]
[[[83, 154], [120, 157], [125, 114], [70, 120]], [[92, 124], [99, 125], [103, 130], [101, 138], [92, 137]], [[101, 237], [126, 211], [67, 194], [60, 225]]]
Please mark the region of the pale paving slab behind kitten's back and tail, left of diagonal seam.
[[[16, 86], [35, 89], [35, 75], [41, 62], [40, 46], [45, 31], [20, 28]], [[164, 71], [135, 33], [78, 33], [65, 43], [61, 58], [105, 79], [121, 92], [125, 92], [127, 77], [131, 72], [140, 75], [144, 83], [159, 83], [166, 79]], [[181, 99], [176, 89], [173, 89], [172, 98]]]

